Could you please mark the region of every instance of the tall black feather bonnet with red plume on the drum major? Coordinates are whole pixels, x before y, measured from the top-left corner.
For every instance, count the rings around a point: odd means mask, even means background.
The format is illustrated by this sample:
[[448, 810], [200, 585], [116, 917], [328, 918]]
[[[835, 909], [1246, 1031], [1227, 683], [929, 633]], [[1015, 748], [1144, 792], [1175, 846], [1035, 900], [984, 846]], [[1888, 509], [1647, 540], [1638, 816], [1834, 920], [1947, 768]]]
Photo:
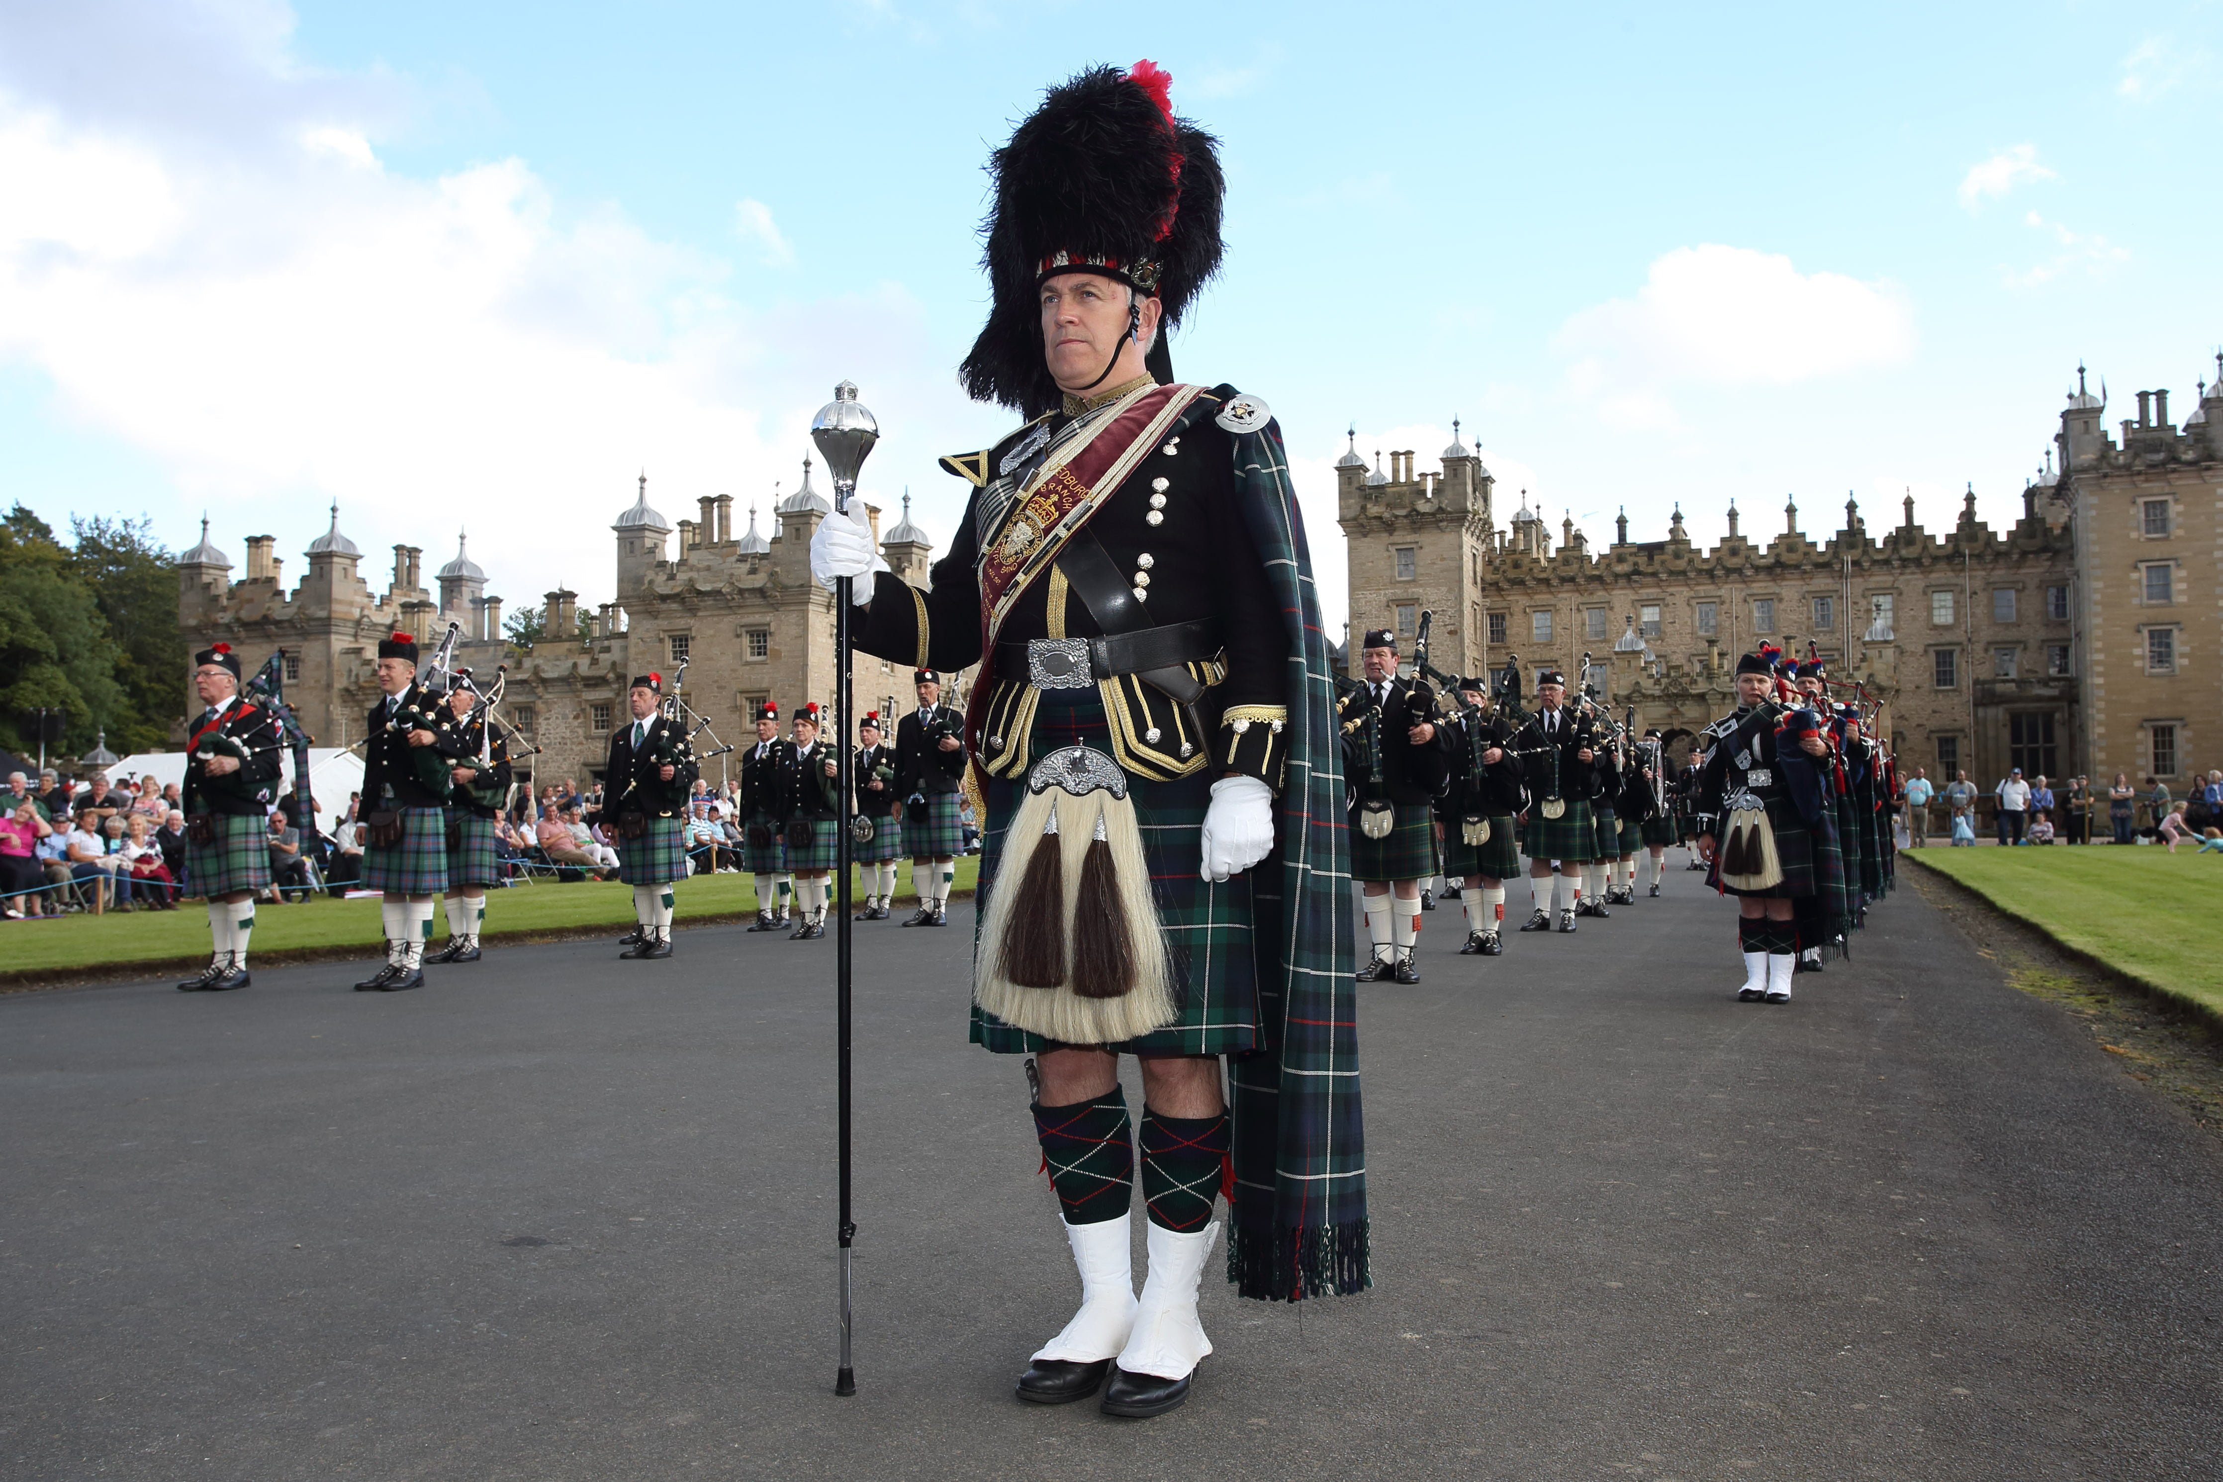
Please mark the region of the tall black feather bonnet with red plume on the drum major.
[[1058, 404], [1043, 358], [1036, 291], [1045, 278], [1094, 271], [1163, 309], [1147, 364], [1174, 378], [1167, 331], [1220, 267], [1218, 140], [1174, 118], [1172, 78], [1152, 62], [1091, 67], [1049, 89], [1011, 142], [989, 158], [996, 182], [980, 264], [994, 304], [958, 367], [967, 395], [1023, 415]]

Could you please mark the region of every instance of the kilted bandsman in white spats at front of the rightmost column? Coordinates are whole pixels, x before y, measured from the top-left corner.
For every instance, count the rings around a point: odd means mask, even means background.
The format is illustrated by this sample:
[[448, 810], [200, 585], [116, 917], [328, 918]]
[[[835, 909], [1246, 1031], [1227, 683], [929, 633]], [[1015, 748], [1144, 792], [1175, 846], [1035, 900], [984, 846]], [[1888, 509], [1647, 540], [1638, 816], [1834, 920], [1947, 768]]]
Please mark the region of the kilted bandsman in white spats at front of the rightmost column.
[[[1821, 900], [1834, 882], [1816, 871], [1816, 833], [1827, 818], [1827, 747], [1821, 715], [1776, 693], [1774, 644], [1736, 660], [1736, 711], [1705, 729], [1698, 778], [1698, 853], [1707, 882], [1736, 895], [1736, 938], [1745, 955], [1741, 1002], [1787, 1004], [1798, 955], [1798, 902]], [[1834, 829], [1834, 827], [1832, 827]], [[1818, 922], [1827, 929], [1827, 920]]]

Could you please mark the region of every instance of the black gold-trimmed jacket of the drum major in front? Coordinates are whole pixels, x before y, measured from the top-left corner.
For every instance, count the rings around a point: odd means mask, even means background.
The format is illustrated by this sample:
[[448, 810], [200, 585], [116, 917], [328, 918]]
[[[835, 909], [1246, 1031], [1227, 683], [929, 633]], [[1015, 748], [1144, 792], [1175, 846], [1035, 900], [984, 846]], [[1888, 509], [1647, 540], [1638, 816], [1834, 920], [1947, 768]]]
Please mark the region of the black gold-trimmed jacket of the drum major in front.
[[[1174, 704], [1156, 707], [1163, 724], [1152, 727], [1156, 738], [1129, 735], [1120, 744], [1145, 758], [1152, 767], [1167, 771], [1194, 771], [1194, 762], [1209, 747], [1207, 764], [1214, 775], [1220, 771], [1243, 771], [1258, 775], [1267, 787], [1280, 789], [1280, 749], [1269, 724], [1252, 724], [1232, 731], [1225, 720], [1236, 707], [1269, 707], [1285, 711], [1289, 635], [1283, 627], [1280, 604], [1274, 600], [1265, 564], [1249, 538], [1243, 511], [1236, 507], [1234, 489], [1234, 440], [1218, 427], [1214, 415], [1234, 398], [1232, 387], [1203, 391], [1189, 407], [1189, 420], [1178, 435], [1138, 447], [1140, 458], [1103, 498], [1085, 531], [1096, 538], [1109, 562], [1132, 591], [1140, 598], [1143, 618], [1149, 627], [1172, 627], [1194, 620], [1216, 620], [1225, 655], [1225, 675], [1212, 684], [1196, 704], [1203, 735], [1187, 738], [1189, 753], [1180, 753], [1180, 738], [1187, 729], [1187, 713]], [[934, 589], [914, 591], [900, 578], [880, 573], [874, 578], [871, 607], [860, 613], [856, 644], [867, 653], [909, 662], [925, 669], [965, 669], [980, 662], [980, 520], [983, 489], [994, 487], [1005, 475], [1005, 467], [1025, 467], [1027, 449], [1036, 447], [1045, 433], [1056, 435], [1074, 418], [1063, 411], [1016, 429], [996, 447], [965, 458], [945, 458], [943, 464], [974, 482], [965, 520], [958, 524], [949, 553], [934, 562]], [[963, 467], [960, 467], [963, 464]], [[1156, 502], [1154, 502], [1156, 500]], [[1009, 529], [1009, 527], [1005, 527]], [[998, 531], [989, 533], [991, 538]], [[1098, 638], [1103, 627], [1078, 591], [1051, 578], [1034, 578], [1014, 602], [996, 631], [996, 642], [1027, 642], [1051, 638], [1049, 593], [1058, 589], [1060, 611], [1056, 629], [1063, 638]], [[1009, 687], [1025, 684], [1025, 673], [996, 673], [987, 695], [976, 707], [978, 713], [996, 713]], [[1156, 711], [1154, 711], [1156, 713]], [[905, 758], [905, 715], [898, 724], [896, 749]], [[994, 769], [998, 755], [1016, 749], [1014, 738], [971, 735], [980, 744], [983, 767]], [[998, 742], [1005, 742], [998, 749]], [[898, 767], [905, 795], [916, 780], [911, 769]], [[954, 771], [947, 773], [954, 782]], [[927, 789], [947, 791], [947, 789]]]

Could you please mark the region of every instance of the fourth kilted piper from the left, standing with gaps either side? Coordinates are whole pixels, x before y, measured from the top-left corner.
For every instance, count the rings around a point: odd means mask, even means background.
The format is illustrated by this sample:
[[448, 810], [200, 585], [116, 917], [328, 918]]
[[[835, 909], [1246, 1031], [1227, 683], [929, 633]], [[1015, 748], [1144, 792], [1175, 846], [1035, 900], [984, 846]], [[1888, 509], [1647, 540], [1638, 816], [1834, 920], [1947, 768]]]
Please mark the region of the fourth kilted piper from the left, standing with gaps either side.
[[676, 884], [687, 878], [687, 795], [698, 775], [685, 727], [665, 713], [665, 675], [634, 675], [625, 691], [631, 722], [609, 738], [598, 818], [618, 835], [618, 880], [634, 887], [640, 940], [620, 958], [671, 955]]

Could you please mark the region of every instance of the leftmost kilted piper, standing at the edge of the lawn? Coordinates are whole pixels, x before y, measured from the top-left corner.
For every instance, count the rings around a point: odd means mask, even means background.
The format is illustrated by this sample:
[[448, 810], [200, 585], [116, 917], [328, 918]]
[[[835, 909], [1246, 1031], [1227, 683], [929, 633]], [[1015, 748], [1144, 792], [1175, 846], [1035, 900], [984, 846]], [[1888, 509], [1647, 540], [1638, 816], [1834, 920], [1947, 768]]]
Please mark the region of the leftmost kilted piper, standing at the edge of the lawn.
[[187, 727], [185, 893], [209, 902], [209, 967], [178, 984], [180, 993], [245, 989], [247, 940], [256, 931], [256, 895], [269, 889], [269, 818], [278, 795], [278, 749], [285, 738], [269, 711], [240, 698], [240, 660], [231, 644], [193, 655], [193, 693], [202, 711]]

